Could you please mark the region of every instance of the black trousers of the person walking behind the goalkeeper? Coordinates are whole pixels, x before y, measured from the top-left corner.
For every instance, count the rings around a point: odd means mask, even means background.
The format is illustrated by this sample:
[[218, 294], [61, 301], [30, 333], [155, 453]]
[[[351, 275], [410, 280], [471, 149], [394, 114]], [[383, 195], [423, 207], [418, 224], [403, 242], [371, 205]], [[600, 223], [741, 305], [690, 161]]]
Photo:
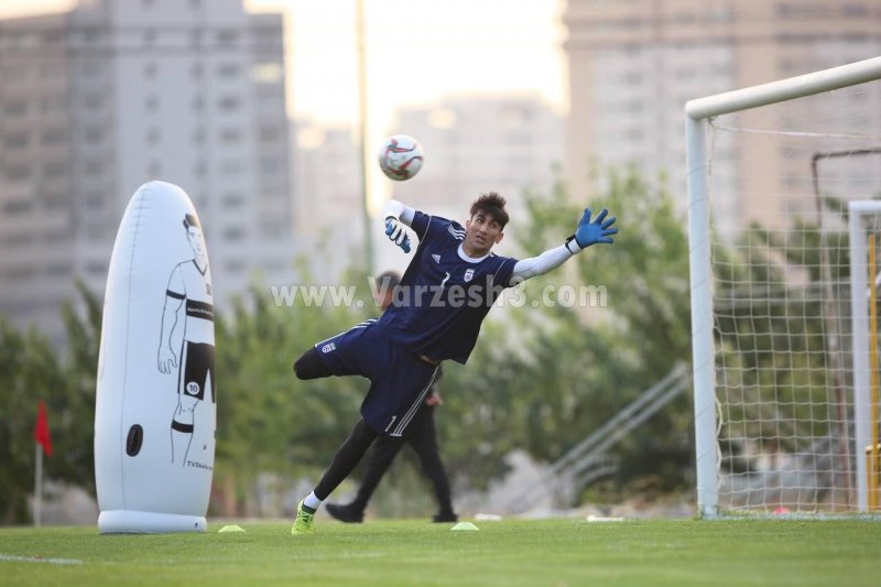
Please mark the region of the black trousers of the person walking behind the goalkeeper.
[[449, 481], [437, 448], [434, 406], [424, 404], [420, 407], [402, 437], [395, 438], [380, 435], [373, 442], [373, 450], [367, 464], [365, 478], [361, 480], [361, 487], [358, 488], [358, 494], [355, 501], [351, 502], [351, 507], [358, 511], [363, 511], [367, 508], [367, 502], [370, 501], [370, 497], [404, 444], [409, 444], [415, 450], [420, 458], [422, 470], [432, 481], [439, 513], [452, 514], [453, 502]]

